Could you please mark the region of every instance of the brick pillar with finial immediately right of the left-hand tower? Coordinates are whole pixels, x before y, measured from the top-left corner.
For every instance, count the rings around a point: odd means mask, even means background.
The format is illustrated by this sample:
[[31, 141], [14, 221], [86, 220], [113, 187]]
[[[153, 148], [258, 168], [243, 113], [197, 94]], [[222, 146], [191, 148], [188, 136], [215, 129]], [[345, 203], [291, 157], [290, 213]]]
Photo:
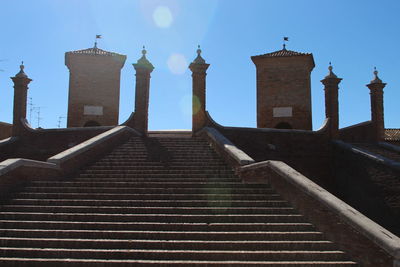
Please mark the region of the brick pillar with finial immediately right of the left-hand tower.
[[135, 129], [143, 135], [147, 135], [149, 120], [149, 90], [150, 73], [153, 71], [153, 65], [146, 58], [147, 51], [142, 50], [142, 57], [136, 64], [132, 64], [136, 70], [136, 92], [135, 92]]

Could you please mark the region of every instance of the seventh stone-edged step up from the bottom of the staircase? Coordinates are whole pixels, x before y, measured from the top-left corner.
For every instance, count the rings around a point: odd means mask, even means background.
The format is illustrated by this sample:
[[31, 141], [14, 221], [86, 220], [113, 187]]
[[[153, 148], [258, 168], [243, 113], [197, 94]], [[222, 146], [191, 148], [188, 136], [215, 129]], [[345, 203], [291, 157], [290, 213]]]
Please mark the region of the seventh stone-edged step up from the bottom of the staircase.
[[98, 206], [38, 206], [3, 205], [3, 212], [44, 212], [44, 213], [103, 213], [103, 214], [295, 214], [291, 207], [98, 207]]

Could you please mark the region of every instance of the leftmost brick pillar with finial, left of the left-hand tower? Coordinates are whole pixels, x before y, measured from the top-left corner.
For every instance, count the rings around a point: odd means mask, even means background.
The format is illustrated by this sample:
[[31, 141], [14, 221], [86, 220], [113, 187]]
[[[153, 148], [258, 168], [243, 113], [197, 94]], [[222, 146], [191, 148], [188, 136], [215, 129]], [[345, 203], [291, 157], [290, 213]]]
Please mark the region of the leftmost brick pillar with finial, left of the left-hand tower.
[[22, 119], [26, 119], [26, 101], [28, 94], [28, 84], [32, 81], [24, 72], [23, 62], [20, 71], [11, 77], [14, 82], [14, 111], [12, 136], [20, 136], [23, 133]]

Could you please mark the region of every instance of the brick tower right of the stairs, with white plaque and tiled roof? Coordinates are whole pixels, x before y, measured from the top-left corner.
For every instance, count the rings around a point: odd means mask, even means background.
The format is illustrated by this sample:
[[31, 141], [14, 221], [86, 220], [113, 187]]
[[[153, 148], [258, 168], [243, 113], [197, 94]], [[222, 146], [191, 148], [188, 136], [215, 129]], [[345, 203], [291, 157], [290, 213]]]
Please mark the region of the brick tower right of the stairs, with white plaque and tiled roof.
[[282, 50], [251, 57], [257, 69], [257, 127], [312, 129], [312, 54]]

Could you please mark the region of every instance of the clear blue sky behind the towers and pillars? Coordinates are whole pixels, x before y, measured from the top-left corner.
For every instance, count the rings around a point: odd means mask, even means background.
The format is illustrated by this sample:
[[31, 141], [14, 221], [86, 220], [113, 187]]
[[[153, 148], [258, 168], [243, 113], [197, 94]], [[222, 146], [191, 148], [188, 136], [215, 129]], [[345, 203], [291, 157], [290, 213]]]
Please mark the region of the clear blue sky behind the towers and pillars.
[[[313, 128], [325, 117], [321, 79], [331, 61], [340, 84], [340, 126], [370, 119], [373, 67], [385, 87], [385, 124], [400, 127], [400, 1], [348, 0], [0, 0], [0, 121], [12, 121], [9, 77], [25, 62], [29, 96], [40, 126], [67, 114], [69, 72], [64, 53], [93, 46], [127, 55], [121, 72], [120, 122], [133, 111], [132, 63], [142, 45], [155, 66], [150, 129], [191, 128], [191, 73], [197, 45], [211, 66], [207, 110], [226, 126], [256, 125], [253, 55], [282, 48], [313, 53]], [[30, 118], [28, 110], [28, 119]], [[65, 127], [66, 119], [61, 120]], [[38, 123], [32, 113], [32, 126]]]

